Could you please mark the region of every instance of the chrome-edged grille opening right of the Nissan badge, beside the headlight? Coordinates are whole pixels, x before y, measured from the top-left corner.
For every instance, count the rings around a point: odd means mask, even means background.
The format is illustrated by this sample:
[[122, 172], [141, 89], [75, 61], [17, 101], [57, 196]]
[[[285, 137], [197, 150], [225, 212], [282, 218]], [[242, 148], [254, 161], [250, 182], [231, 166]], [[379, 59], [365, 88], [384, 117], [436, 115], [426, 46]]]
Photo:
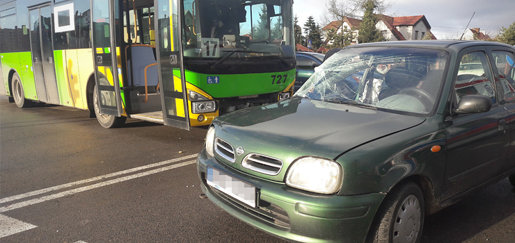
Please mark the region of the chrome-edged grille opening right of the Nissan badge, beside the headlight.
[[283, 167], [283, 161], [269, 156], [249, 153], [241, 162], [241, 166], [262, 174], [275, 176], [279, 174], [280, 169]]

